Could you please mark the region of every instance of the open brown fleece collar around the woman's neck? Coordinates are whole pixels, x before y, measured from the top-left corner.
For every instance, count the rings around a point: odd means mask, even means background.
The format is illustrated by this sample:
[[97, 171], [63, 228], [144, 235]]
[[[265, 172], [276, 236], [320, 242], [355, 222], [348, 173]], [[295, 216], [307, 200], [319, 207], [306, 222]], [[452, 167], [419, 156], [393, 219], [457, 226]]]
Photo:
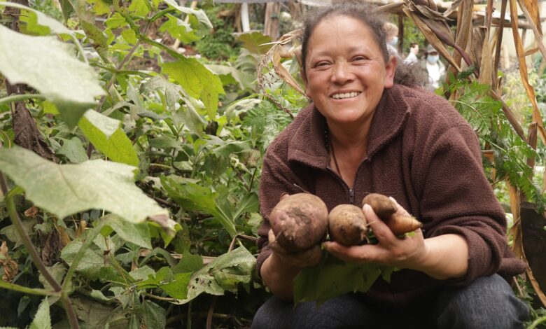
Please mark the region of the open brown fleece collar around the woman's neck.
[[[367, 144], [367, 159], [400, 133], [411, 112], [405, 101], [405, 87], [394, 85], [384, 90], [372, 118]], [[325, 169], [330, 164], [330, 152], [325, 146], [326, 120], [310, 104], [299, 116], [304, 116], [288, 142], [288, 161]], [[297, 120], [297, 118], [296, 118]]]

